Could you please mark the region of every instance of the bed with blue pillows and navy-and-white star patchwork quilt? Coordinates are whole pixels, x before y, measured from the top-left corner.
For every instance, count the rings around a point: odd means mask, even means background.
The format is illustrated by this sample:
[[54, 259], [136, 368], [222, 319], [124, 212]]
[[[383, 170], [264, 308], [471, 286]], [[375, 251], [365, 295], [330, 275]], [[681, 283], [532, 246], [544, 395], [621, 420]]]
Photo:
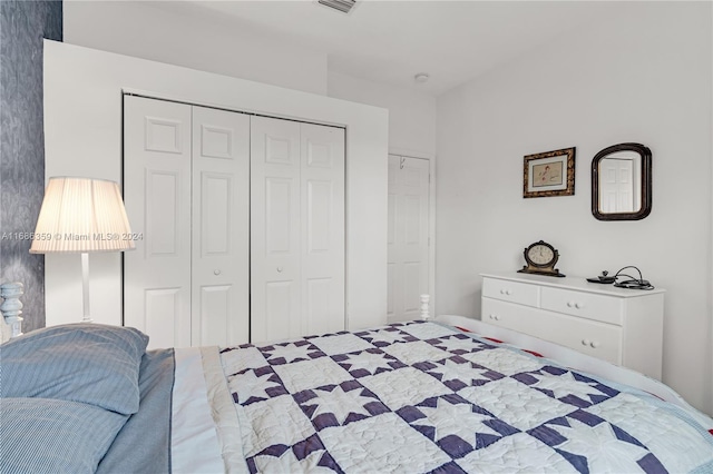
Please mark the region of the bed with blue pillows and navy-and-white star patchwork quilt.
[[665, 385], [439, 319], [148, 352], [95, 324], [16, 337], [2, 472], [713, 472], [713, 419]]

